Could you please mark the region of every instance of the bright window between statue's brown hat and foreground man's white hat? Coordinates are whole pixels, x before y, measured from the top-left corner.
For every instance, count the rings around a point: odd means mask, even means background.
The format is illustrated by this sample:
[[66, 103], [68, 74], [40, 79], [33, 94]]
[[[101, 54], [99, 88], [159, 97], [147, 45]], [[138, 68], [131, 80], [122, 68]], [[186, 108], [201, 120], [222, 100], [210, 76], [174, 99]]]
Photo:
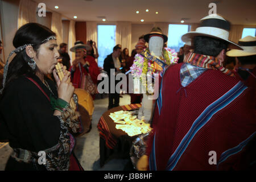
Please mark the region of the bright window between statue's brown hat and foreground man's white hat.
[[184, 42], [181, 40], [181, 36], [189, 32], [190, 26], [187, 24], [169, 24], [168, 31], [168, 45], [176, 52], [179, 52], [180, 47], [184, 46]]

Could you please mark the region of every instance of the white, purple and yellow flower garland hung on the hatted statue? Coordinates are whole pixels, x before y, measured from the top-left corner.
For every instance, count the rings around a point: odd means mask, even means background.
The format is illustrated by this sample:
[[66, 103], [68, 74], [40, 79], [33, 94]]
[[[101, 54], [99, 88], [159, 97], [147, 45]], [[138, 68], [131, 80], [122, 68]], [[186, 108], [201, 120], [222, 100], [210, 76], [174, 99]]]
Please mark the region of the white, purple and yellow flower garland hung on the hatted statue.
[[[149, 52], [148, 48], [145, 51]], [[177, 57], [177, 53], [174, 51], [174, 49], [165, 47], [163, 48], [163, 59], [167, 65], [170, 65], [173, 63], [177, 63], [177, 60], [179, 58]], [[146, 76], [151, 76], [153, 73], [156, 73], [156, 71], [154, 70], [154, 63], [151, 63], [151, 61], [146, 59], [146, 57], [137, 54], [135, 55], [134, 63], [130, 67], [130, 69], [133, 77], [139, 78], [141, 80], [142, 86], [146, 88], [146, 93], [149, 94], [147, 90], [147, 80], [142, 78], [142, 74]]]

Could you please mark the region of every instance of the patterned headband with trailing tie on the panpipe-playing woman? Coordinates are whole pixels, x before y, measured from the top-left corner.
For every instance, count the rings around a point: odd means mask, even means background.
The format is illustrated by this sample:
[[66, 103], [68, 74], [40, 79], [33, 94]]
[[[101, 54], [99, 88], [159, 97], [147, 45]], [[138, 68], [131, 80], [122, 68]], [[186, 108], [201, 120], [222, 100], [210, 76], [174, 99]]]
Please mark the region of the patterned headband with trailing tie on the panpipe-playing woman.
[[[56, 36], [49, 36], [48, 38], [46, 38], [42, 41], [42, 44], [46, 43], [49, 40], [56, 40]], [[3, 89], [5, 88], [5, 84], [6, 84], [5, 82], [6, 82], [8, 66], [9, 66], [8, 62], [9, 62], [9, 58], [11, 57], [11, 55], [13, 55], [13, 53], [18, 53], [20, 51], [23, 51], [27, 46], [33, 46], [33, 45], [34, 44], [24, 44], [23, 46], [19, 46], [10, 52], [10, 55], [8, 56], [6, 64], [5, 64], [5, 68], [3, 69], [3, 88], [0, 90], [0, 94], [3, 93]]]

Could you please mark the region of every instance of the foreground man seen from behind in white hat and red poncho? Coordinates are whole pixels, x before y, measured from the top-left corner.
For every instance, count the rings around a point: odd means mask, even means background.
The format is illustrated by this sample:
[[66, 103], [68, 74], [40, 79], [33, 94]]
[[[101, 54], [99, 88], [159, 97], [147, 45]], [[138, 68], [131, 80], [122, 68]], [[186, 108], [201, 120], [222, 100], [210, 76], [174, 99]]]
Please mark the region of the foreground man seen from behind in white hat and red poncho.
[[255, 135], [255, 107], [250, 107], [250, 89], [222, 67], [228, 46], [242, 49], [228, 40], [229, 27], [222, 16], [209, 15], [195, 32], [182, 36], [194, 51], [163, 74], [154, 132], [139, 169], [148, 163], [151, 170], [249, 167], [240, 155]]

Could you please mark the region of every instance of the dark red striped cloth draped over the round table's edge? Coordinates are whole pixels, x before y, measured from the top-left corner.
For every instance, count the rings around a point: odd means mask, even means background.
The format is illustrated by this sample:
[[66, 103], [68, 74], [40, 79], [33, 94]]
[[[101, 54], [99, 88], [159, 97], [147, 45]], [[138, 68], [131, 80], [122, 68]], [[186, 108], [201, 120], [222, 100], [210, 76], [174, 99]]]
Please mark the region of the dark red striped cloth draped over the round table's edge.
[[[130, 104], [130, 105], [123, 105], [119, 107], [114, 107], [112, 112], [119, 111], [119, 110], [136, 110], [141, 107], [141, 104]], [[113, 122], [113, 120], [109, 117], [109, 111], [106, 111], [102, 114], [100, 120], [98, 121], [98, 130], [100, 131], [100, 137], [104, 138], [106, 141], [106, 146], [110, 149], [113, 149], [114, 146], [117, 144], [117, 138], [111, 133], [108, 121]]]

